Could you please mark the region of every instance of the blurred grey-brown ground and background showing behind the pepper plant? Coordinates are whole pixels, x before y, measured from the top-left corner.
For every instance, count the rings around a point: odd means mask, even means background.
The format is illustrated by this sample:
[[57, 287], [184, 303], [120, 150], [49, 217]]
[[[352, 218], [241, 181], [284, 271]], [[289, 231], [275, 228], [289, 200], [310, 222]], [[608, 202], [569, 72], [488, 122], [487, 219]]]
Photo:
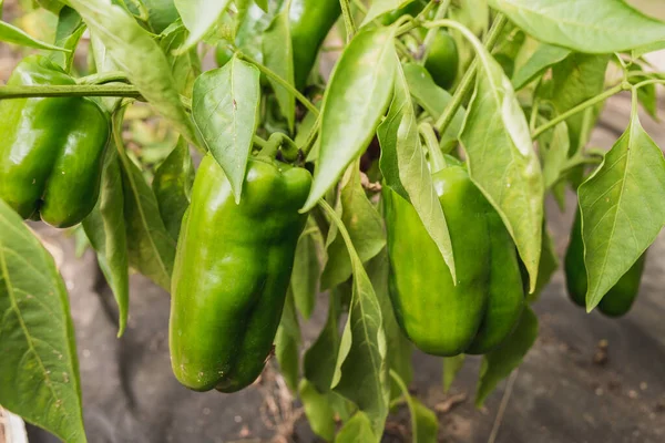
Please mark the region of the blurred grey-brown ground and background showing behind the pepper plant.
[[[665, 20], [663, 0], [630, 2]], [[32, 11], [31, 0], [6, 0], [3, 20], [41, 40], [53, 39], [49, 32], [55, 16]], [[27, 53], [0, 43], [0, 84]], [[665, 52], [647, 59], [665, 71]], [[332, 62], [327, 60], [323, 65]], [[85, 58], [78, 63], [85, 66]], [[213, 68], [212, 61], [206, 68]], [[665, 111], [663, 101], [658, 105]], [[611, 99], [590, 145], [610, 148], [627, 125], [630, 107], [630, 95]], [[175, 144], [175, 135], [145, 105], [134, 106], [127, 120], [127, 147], [149, 166], [150, 176], [151, 166]], [[642, 123], [665, 147], [665, 125], [646, 114]], [[572, 193], [566, 213], [553, 202], [548, 204], [549, 229], [560, 258], [567, 246], [574, 205]], [[257, 383], [233, 395], [194, 393], [181, 387], [171, 373], [168, 358], [168, 295], [139, 275], [131, 280], [127, 331], [116, 339], [113, 297], [82, 231], [55, 230], [43, 224], [33, 228], [55, 257], [70, 291], [91, 442], [316, 441], [275, 362]], [[319, 302], [311, 320], [301, 321], [305, 347], [325, 322], [326, 306]], [[535, 347], [481, 410], [473, 406], [477, 358], [468, 359], [451, 391], [444, 394], [441, 359], [415, 353], [410, 389], [437, 412], [439, 441], [665, 442], [665, 234], [649, 250], [641, 295], [624, 318], [586, 315], [573, 306], [561, 270], [535, 311], [541, 321]], [[18, 423], [0, 411], [0, 443], [21, 442], [22, 431], [10, 440], [10, 431], [20, 430]], [[409, 432], [408, 411], [402, 408], [389, 416], [385, 441], [409, 441]], [[27, 434], [34, 443], [57, 441], [31, 426]]]

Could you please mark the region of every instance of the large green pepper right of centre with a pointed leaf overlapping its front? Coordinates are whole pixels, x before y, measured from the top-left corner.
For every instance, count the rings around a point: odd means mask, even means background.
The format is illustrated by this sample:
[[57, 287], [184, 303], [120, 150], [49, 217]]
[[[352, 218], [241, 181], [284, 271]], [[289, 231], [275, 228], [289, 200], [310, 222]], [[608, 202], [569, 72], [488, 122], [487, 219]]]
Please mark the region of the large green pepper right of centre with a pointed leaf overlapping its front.
[[514, 245], [461, 166], [432, 176], [452, 240], [458, 285], [413, 207], [383, 189], [390, 298], [407, 337], [436, 356], [484, 353], [508, 338], [524, 306]]

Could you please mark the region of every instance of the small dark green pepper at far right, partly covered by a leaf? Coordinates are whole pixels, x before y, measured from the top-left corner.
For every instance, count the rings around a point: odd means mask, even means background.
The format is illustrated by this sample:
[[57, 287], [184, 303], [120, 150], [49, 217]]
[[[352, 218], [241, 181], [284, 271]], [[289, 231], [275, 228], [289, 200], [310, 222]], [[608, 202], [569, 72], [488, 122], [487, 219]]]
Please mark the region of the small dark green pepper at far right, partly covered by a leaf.
[[[607, 317], [622, 317], [631, 310], [640, 292], [640, 282], [645, 260], [646, 253], [635, 261], [631, 269], [603, 297], [598, 303], [598, 310], [602, 313]], [[571, 300], [575, 305], [585, 308], [587, 280], [580, 210], [575, 215], [571, 241], [565, 253], [565, 282]]]

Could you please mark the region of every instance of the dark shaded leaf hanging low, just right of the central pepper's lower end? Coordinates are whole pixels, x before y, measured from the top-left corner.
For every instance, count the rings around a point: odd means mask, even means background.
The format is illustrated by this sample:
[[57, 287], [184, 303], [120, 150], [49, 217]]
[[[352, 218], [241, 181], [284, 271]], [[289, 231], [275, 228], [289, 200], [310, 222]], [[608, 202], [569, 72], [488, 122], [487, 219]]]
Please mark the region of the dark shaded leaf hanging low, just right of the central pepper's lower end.
[[339, 311], [341, 288], [330, 291], [328, 303], [328, 319], [318, 338], [305, 352], [305, 378], [311, 382], [320, 393], [330, 392], [337, 353], [339, 351]]

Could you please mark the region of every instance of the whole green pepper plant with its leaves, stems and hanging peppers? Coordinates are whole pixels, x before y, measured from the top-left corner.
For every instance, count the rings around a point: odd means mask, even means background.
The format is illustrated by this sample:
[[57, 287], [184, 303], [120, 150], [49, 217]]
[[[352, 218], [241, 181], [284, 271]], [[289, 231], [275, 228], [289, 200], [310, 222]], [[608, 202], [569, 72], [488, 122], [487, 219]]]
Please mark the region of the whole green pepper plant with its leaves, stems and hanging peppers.
[[[443, 389], [482, 354], [478, 405], [520, 364], [559, 266], [548, 194], [577, 212], [573, 300], [635, 300], [665, 223], [638, 116], [658, 119], [644, 55], [665, 23], [623, 0], [37, 3], [52, 41], [0, 22], [37, 52], [0, 86], [0, 404], [63, 441], [86, 441], [68, 293], [23, 219], [82, 227], [119, 336], [130, 268], [172, 292], [185, 387], [231, 393], [276, 360], [327, 441], [379, 441], [400, 399], [413, 441], [436, 441], [407, 389], [416, 348]], [[618, 93], [625, 133], [589, 146]], [[150, 162], [123, 131], [145, 103], [172, 147]]]

